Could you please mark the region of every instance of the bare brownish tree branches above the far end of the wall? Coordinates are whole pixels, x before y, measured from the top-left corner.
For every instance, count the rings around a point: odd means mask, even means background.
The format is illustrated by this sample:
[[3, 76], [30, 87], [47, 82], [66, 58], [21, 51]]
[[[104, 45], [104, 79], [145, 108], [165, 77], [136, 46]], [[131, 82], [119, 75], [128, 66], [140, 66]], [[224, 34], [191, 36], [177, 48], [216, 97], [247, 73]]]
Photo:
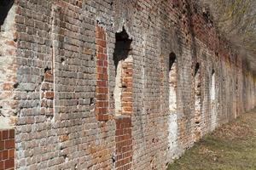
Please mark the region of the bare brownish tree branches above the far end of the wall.
[[199, 2], [210, 10], [218, 30], [255, 62], [256, 0], [200, 0]]

